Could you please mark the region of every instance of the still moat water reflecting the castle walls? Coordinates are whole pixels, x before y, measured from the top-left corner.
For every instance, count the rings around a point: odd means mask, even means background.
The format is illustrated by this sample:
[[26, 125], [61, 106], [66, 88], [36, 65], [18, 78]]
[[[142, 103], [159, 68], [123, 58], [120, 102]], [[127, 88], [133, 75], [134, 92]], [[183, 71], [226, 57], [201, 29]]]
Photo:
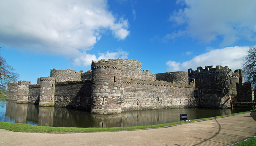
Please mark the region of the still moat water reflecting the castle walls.
[[188, 115], [188, 120], [192, 120], [248, 110], [251, 109], [175, 108], [133, 110], [124, 111], [121, 114], [99, 115], [82, 110], [38, 107], [34, 104], [17, 104], [0, 100], [0, 121], [53, 127], [125, 127], [178, 122], [180, 114], [183, 113]]

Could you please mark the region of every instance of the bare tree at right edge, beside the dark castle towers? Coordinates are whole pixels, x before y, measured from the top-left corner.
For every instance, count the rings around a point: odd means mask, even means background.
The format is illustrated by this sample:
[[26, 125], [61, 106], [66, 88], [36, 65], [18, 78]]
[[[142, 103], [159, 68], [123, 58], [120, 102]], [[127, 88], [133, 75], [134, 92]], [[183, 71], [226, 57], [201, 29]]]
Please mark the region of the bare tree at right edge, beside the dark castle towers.
[[250, 47], [246, 57], [242, 61], [244, 78], [256, 85], [256, 46]]

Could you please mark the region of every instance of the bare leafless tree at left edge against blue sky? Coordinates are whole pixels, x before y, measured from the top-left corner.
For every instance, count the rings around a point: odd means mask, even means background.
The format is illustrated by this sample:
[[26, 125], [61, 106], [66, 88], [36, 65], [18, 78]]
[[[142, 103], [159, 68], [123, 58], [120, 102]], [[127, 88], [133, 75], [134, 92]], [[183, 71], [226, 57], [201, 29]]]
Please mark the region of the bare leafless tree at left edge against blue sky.
[[[0, 46], [0, 50], [1, 46]], [[17, 82], [19, 74], [16, 70], [6, 63], [6, 60], [0, 55], [0, 90], [5, 90], [7, 83]]]

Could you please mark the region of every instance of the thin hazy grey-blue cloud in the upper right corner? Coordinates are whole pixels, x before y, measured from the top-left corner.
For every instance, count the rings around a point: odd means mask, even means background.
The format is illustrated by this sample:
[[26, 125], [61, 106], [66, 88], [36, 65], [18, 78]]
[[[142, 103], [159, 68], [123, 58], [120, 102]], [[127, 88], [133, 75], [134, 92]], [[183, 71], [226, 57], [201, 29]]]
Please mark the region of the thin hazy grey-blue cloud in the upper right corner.
[[255, 0], [178, 0], [176, 4], [184, 7], [172, 12], [170, 21], [181, 29], [164, 40], [187, 35], [210, 43], [221, 37], [222, 46], [239, 39], [256, 41]]

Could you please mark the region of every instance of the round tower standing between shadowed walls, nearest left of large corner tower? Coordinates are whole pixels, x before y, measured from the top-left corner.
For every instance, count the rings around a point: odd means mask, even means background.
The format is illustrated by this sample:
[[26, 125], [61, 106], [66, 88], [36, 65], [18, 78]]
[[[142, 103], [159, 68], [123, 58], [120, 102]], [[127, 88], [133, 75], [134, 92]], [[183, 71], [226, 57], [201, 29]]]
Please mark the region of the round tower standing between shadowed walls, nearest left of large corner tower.
[[40, 78], [39, 106], [54, 106], [55, 78]]

